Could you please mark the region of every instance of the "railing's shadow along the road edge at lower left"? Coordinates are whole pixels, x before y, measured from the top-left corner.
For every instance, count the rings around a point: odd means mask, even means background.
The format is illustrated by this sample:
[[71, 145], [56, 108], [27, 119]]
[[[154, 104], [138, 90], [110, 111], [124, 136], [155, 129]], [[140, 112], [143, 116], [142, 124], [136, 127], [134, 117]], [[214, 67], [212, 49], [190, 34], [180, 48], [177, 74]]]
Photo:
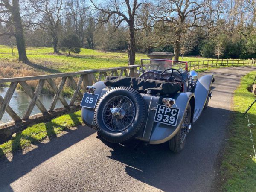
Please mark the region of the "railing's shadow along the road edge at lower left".
[[[52, 129], [48, 128], [48, 131], [50, 132]], [[13, 191], [10, 186], [12, 182], [26, 175], [49, 158], [95, 133], [93, 129], [84, 126], [65, 131], [68, 133], [58, 138], [51, 138], [48, 143], [33, 143], [37, 147], [25, 154], [22, 150], [14, 152], [11, 161], [6, 157], [0, 158], [0, 191]]]

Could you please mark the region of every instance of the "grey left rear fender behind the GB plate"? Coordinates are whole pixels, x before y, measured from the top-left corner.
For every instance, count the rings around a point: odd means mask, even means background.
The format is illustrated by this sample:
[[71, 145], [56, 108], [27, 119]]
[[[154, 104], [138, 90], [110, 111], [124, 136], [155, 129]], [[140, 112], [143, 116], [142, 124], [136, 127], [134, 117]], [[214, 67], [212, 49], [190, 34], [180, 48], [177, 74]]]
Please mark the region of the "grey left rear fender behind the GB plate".
[[[99, 95], [98, 97], [98, 101], [99, 101], [101, 96], [106, 92], [106, 91], [102, 91], [103, 89], [106, 88], [106, 86], [103, 81], [96, 82], [95, 84], [93, 84], [93, 86], [96, 88], [94, 94]], [[95, 109], [85, 108], [85, 107], [82, 107], [82, 111], [81, 111], [81, 117], [84, 124], [90, 128], [93, 128], [94, 126], [94, 122], [93, 122], [94, 111]]]

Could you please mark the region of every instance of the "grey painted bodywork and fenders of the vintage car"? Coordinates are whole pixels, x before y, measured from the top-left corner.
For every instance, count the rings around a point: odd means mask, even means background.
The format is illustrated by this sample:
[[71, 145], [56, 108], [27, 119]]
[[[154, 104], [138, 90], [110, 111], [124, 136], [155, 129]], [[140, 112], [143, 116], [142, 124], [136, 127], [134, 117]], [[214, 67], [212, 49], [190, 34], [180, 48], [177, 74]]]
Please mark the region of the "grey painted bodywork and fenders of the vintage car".
[[[140, 93], [146, 105], [146, 116], [143, 128], [141, 128], [135, 139], [149, 144], [160, 144], [169, 141], [182, 126], [184, 111], [189, 104], [191, 106], [191, 124], [198, 120], [205, 105], [207, 105], [207, 99], [211, 96], [210, 91], [214, 76], [212, 74], [197, 78], [195, 71], [190, 73], [183, 71], [182, 75], [186, 81], [183, 92], [178, 92], [172, 96], [175, 99], [175, 104], [172, 107], [179, 109], [177, 124], [170, 126], [154, 121], [157, 105], [163, 105], [162, 99], [165, 97], [164, 95]], [[193, 81], [193, 84], [190, 81]], [[111, 89], [111, 87], [106, 87], [103, 81], [96, 82], [93, 87], [96, 88], [94, 94], [99, 95], [98, 100]], [[90, 128], [95, 128], [94, 110], [93, 108], [82, 107], [81, 111], [83, 122]]]

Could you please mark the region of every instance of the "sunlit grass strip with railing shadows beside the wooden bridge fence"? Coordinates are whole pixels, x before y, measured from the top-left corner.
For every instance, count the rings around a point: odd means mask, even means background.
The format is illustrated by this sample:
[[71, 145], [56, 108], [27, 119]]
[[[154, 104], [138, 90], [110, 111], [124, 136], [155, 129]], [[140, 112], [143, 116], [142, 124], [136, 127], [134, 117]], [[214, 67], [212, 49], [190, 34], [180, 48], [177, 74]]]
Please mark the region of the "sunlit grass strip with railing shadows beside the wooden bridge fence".
[[81, 111], [65, 114], [46, 123], [32, 125], [17, 133], [11, 140], [0, 145], [0, 157], [22, 150], [31, 144], [36, 144], [43, 139], [56, 137], [61, 131], [81, 125]]

